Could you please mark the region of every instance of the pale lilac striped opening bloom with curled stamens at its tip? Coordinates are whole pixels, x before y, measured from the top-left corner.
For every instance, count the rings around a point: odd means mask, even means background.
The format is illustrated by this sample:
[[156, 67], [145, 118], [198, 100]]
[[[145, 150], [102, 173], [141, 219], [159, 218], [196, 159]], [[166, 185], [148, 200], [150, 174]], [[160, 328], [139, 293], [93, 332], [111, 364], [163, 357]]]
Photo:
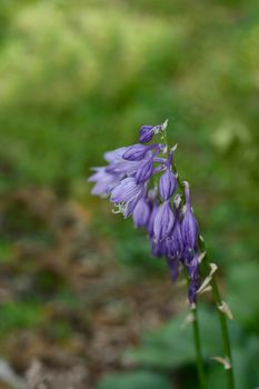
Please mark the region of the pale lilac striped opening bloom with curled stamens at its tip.
[[110, 201], [116, 203], [129, 202], [136, 198], [140, 198], [143, 190], [143, 184], [138, 184], [133, 177], [127, 177], [112, 189]]

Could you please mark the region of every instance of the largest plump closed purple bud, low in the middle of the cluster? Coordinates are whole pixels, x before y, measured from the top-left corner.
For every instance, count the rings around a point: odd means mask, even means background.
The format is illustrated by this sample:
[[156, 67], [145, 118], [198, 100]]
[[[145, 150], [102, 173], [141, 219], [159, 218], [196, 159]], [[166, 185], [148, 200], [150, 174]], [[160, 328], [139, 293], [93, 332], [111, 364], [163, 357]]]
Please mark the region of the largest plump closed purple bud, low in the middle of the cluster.
[[165, 201], [158, 207], [153, 220], [153, 237], [159, 241], [166, 239], [171, 232], [175, 225], [175, 215], [169, 201]]

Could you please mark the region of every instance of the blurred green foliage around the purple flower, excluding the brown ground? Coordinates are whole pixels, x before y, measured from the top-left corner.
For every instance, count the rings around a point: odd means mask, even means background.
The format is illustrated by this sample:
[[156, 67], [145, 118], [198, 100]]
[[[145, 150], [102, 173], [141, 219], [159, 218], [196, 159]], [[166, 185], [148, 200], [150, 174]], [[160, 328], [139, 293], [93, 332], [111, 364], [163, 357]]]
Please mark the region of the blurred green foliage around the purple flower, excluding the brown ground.
[[[193, 188], [201, 230], [238, 321], [231, 336], [240, 389], [259, 382], [258, 41], [257, 0], [0, 0], [1, 197], [50, 187], [59, 199], [86, 207], [92, 237], [109, 241], [127, 271], [159, 276], [165, 263], [150, 259], [141, 232], [92, 199], [84, 178], [103, 163], [103, 151], [136, 142], [142, 123], [169, 118], [177, 166]], [[0, 261], [9, 282], [13, 242], [51, 245], [54, 228], [29, 217], [19, 202], [7, 208]], [[31, 263], [21, 269], [30, 273]], [[78, 296], [62, 277], [41, 269], [37, 290], [76, 306]], [[42, 310], [22, 299], [1, 303], [0, 336], [42, 323]], [[206, 309], [200, 316], [206, 355], [220, 352], [212, 316]], [[181, 369], [192, 379], [191, 335], [187, 328], [182, 336], [181, 321], [145, 336], [127, 352], [137, 370], [104, 377], [100, 389], [166, 389], [172, 370]], [[51, 323], [53, 338], [71, 331], [63, 320]], [[223, 389], [221, 367], [208, 360], [208, 373], [209, 387]], [[188, 379], [185, 385], [193, 389]]]

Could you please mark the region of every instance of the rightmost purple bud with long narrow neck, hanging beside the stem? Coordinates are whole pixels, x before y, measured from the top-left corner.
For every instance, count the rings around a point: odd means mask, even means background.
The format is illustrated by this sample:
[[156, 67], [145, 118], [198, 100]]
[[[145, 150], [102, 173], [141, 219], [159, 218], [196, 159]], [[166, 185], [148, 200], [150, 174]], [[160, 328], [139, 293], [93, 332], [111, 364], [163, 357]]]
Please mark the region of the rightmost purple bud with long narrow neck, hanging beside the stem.
[[199, 228], [198, 222], [192, 213], [190, 203], [190, 188], [188, 184], [185, 187], [186, 196], [186, 213], [183, 215], [181, 222], [181, 233], [185, 246], [187, 249], [193, 250], [198, 243]]

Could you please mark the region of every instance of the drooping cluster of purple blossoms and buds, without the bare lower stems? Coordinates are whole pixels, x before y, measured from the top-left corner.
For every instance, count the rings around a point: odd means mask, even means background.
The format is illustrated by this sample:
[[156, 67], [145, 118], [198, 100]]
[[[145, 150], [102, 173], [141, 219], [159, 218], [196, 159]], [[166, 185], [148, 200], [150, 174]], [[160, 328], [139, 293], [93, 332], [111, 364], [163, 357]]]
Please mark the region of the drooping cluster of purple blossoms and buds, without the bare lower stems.
[[[189, 279], [189, 300], [196, 301], [199, 288], [198, 223], [193, 216], [188, 182], [180, 182], [172, 162], [176, 147], [165, 141], [167, 121], [142, 126], [139, 143], [104, 153], [106, 167], [93, 168], [89, 181], [92, 194], [109, 197], [117, 212], [132, 217], [137, 228], [145, 228], [155, 257], [166, 258], [172, 280], [179, 266]], [[155, 134], [161, 143], [149, 143]]]

